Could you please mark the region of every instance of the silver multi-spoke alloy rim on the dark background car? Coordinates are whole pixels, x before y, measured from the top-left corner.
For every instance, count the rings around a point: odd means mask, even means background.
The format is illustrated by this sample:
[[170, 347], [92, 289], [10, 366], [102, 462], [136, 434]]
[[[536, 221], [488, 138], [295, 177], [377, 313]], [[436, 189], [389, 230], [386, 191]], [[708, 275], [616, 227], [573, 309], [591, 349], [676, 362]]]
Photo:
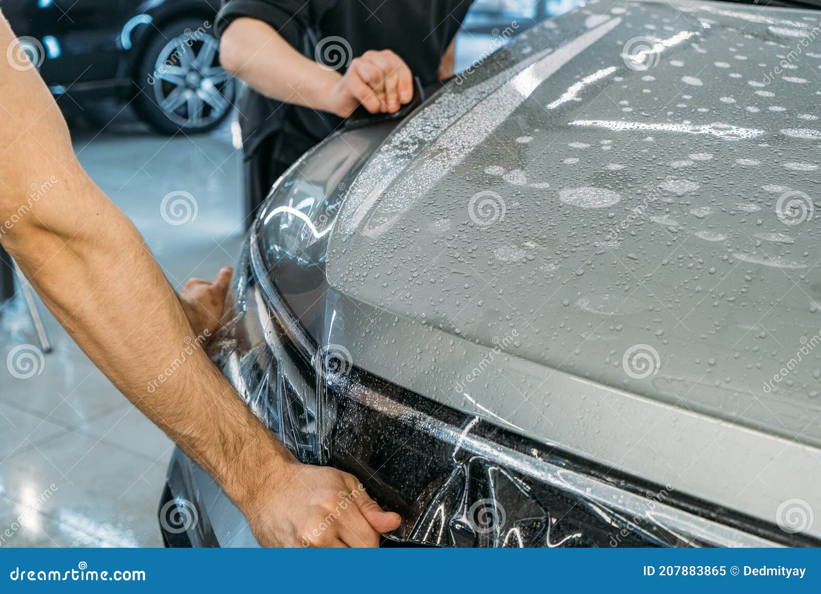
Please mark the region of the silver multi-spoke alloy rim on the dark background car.
[[218, 62], [217, 39], [188, 30], [168, 41], [154, 62], [154, 99], [182, 128], [209, 126], [231, 107], [234, 80]]

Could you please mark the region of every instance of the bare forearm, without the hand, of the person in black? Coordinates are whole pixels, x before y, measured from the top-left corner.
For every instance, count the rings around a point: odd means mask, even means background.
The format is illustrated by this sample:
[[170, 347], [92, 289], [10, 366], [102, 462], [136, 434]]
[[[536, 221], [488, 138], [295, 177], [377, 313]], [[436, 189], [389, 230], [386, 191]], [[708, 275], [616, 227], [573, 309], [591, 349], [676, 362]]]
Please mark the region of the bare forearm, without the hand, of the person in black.
[[328, 89], [340, 75], [291, 47], [273, 27], [241, 18], [220, 39], [222, 67], [260, 94], [290, 104], [330, 111]]

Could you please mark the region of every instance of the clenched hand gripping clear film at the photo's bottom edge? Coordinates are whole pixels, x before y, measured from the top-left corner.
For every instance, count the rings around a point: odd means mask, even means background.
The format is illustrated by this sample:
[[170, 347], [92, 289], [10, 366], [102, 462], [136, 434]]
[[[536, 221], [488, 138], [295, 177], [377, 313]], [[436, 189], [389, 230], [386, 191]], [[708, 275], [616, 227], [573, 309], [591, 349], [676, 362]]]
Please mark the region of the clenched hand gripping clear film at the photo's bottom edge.
[[261, 546], [379, 546], [379, 534], [401, 523], [356, 477], [336, 468], [293, 460], [262, 481], [240, 504]]

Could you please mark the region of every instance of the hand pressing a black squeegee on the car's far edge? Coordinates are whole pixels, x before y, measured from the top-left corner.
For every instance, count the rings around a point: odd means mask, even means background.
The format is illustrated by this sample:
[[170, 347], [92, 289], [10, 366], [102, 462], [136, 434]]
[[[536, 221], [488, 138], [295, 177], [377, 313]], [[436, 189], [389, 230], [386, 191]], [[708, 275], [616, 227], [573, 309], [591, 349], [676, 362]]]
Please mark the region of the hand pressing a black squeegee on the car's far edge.
[[413, 99], [410, 68], [389, 49], [355, 58], [331, 87], [326, 111], [348, 117], [360, 105], [369, 113], [394, 113]]

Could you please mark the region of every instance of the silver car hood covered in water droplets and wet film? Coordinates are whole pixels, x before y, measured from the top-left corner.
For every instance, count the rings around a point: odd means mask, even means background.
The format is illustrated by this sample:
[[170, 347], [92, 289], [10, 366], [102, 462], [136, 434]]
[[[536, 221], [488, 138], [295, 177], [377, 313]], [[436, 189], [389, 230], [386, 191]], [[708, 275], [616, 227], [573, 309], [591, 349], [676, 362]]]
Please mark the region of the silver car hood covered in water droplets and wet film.
[[591, 2], [520, 35], [347, 188], [326, 338], [716, 504], [821, 509], [818, 25]]

